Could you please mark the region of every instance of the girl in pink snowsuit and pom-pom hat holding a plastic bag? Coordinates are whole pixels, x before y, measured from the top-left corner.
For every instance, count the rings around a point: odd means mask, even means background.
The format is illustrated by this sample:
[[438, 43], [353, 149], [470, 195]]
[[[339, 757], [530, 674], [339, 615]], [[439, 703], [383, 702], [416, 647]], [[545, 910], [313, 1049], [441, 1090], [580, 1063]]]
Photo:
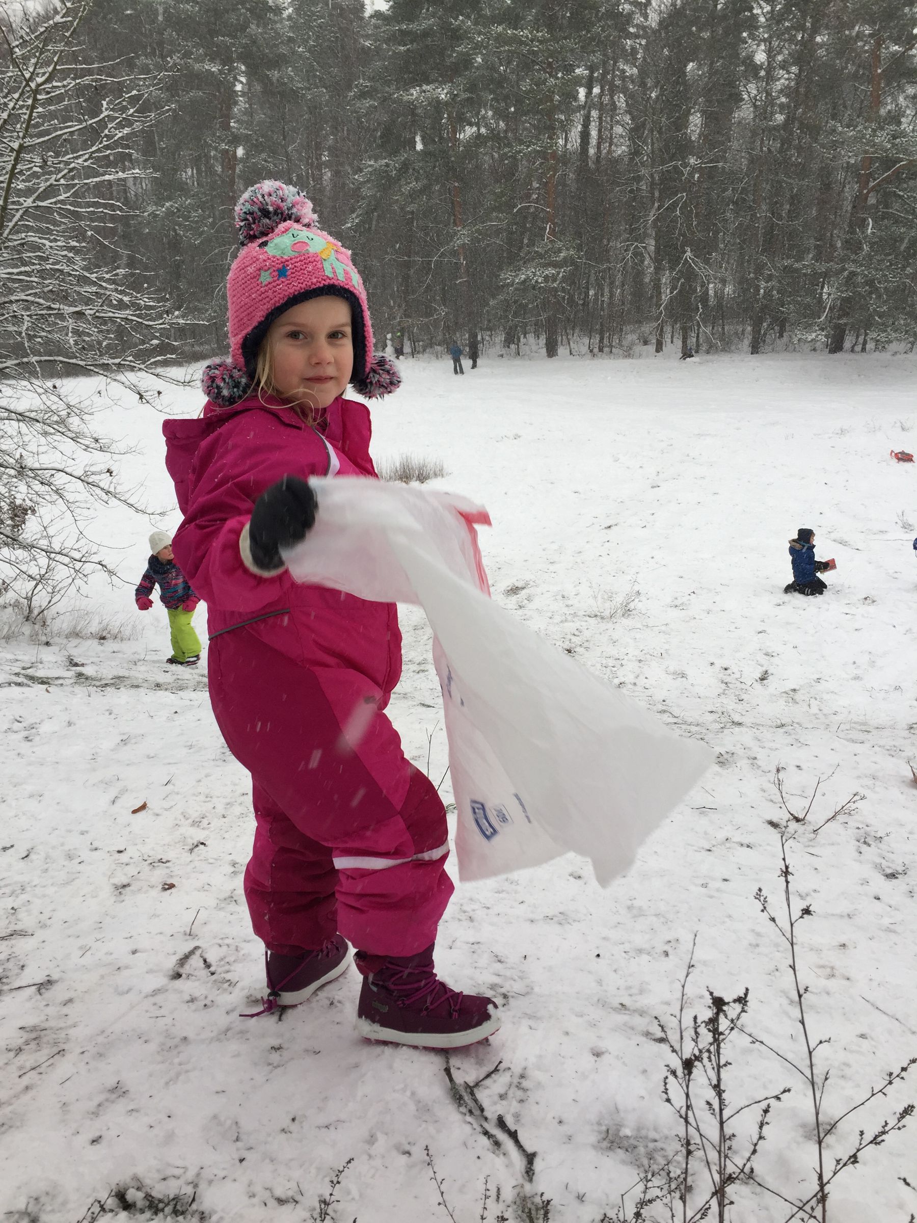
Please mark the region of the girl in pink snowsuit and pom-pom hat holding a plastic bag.
[[185, 515], [172, 547], [208, 607], [216, 722], [252, 774], [245, 889], [267, 948], [264, 1010], [362, 974], [357, 1030], [452, 1048], [499, 1026], [433, 965], [452, 893], [443, 804], [384, 711], [401, 673], [396, 609], [298, 585], [281, 547], [315, 519], [309, 476], [375, 477], [368, 408], [394, 391], [373, 356], [363, 283], [295, 188], [259, 183], [236, 208], [229, 361], [204, 371], [199, 419], [169, 421]]

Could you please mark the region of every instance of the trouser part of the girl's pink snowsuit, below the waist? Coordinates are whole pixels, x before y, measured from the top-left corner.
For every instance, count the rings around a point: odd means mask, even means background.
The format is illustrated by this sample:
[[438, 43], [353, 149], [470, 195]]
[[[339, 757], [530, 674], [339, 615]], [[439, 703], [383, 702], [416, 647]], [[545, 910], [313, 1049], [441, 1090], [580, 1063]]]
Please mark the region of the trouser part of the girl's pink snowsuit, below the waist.
[[300, 667], [245, 629], [212, 641], [208, 673], [226, 746], [252, 774], [245, 890], [268, 950], [295, 955], [337, 932], [374, 955], [429, 947], [452, 894], [446, 816], [379, 711], [383, 692], [357, 671]]

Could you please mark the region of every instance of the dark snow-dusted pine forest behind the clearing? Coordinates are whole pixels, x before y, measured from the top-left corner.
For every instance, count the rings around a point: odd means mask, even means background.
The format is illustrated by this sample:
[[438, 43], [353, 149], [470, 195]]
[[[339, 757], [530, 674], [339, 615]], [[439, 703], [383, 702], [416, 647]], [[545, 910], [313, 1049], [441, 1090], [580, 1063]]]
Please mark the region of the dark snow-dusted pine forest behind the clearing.
[[907, 0], [94, 0], [84, 54], [149, 88], [98, 253], [219, 347], [232, 204], [279, 177], [408, 351], [911, 342], [916, 29]]

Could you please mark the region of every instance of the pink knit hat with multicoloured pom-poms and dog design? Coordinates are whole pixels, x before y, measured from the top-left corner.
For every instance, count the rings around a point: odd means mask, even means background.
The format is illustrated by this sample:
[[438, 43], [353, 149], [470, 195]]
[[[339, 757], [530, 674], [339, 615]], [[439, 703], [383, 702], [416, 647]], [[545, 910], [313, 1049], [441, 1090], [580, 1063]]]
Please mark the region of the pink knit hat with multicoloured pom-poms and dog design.
[[227, 361], [204, 368], [204, 394], [219, 407], [245, 399], [254, 380], [258, 347], [274, 319], [298, 302], [326, 294], [351, 306], [355, 390], [367, 399], [397, 390], [401, 374], [394, 362], [373, 356], [366, 289], [350, 251], [318, 227], [306, 196], [265, 179], [236, 204], [236, 229], [242, 249], [226, 281], [231, 351]]

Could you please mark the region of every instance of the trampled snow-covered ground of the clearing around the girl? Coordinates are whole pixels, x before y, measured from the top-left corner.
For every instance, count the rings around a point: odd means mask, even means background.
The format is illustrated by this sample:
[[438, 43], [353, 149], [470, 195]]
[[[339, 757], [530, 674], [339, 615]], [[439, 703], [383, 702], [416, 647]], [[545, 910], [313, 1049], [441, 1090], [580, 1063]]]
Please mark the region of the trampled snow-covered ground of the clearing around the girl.
[[[353, 970], [282, 1022], [238, 1019], [263, 992], [242, 898], [246, 774], [214, 725], [204, 667], [165, 667], [164, 612], [133, 613], [145, 536], [179, 520], [161, 418], [112, 407], [111, 430], [138, 446], [126, 477], [163, 512], [100, 516], [97, 537], [126, 583], [93, 585], [89, 599], [123, 610], [137, 637], [0, 647], [2, 1219], [92, 1219], [93, 1200], [127, 1183], [160, 1199], [196, 1191], [202, 1217], [226, 1223], [445, 1218], [425, 1147], [457, 1223], [516, 1217], [520, 1186], [520, 1217], [547, 1218], [543, 1194], [554, 1223], [614, 1218], [638, 1168], [676, 1147], [654, 1016], [677, 1005], [694, 934], [690, 1009], [707, 986], [727, 998], [748, 986], [748, 1027], [801, 1055], [786, 948], [754, 900], [758, 887], [780, 900], [778, 766], [802, 807], [823, 779], [818, 823], [862, 795], [791, 850], [800, 904], [814, 911], [801, 961], [809, 1024], [830, 1038], [819, 1051], [829, 1123], [917, 1053], [917, 465], [889, 457], [917, 440], [917, 361], [489, 360], [463, 378], [446, 361], [408, 361], [405, 373], [374, 408], [377, 459], [441, 457], [439, 484], [490, 509], [494, 596], [699, 735], [718, 763], [605, 892], [571, 857], [458, 888], [438, 965], [496, 997], [505, 1022], [451, 1068], [473, 1084], [499, 1063], [477, 1091], [499, 1145], [473, 1107], [460, 1112], [444, 1057], [355, 1036]], [[199, 402], [164, 386], [158, 405], [194, 413]], [[820, 599], [783, 594], [800, 526], [838, 561]], [[438, 780], [428, 632], [416, 609], [402, 624], [391, 712]], [[792, 1087], [756, 1177], [805, 1196], [805, 1084], [732, 1041], [734, 1106]], [[913, 1098], [917, 1075], [845, 1123], [830, 1161]], [[498, 1114], [537, 1152], [531, 1184]], [[737, 1151], [752, 1125], [753, 1110], [736, 1121]], [[845, 1172], [829, 1218], [906, 1223], [916, 1134]], [[322, 1213], [329, 1178], [351, 1159]], [[704, 1175], [698, 1167], [698, 1186]], [[752, 1186], [732, 1196], [736, 1223], [789, 1214]]]

